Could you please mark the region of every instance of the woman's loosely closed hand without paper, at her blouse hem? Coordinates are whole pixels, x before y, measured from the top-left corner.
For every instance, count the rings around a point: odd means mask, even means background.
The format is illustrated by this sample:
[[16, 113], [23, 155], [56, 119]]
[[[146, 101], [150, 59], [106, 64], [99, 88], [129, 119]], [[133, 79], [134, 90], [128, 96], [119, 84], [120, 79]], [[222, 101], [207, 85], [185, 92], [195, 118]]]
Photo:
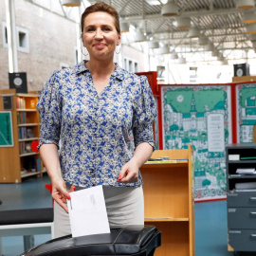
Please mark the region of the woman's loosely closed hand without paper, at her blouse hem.
[[131, 159], [125, 165], [122, 166], [119, 173], [119, 179], [117, 182], [121, 183], [135, 183], [138, 181], [138, 165]]

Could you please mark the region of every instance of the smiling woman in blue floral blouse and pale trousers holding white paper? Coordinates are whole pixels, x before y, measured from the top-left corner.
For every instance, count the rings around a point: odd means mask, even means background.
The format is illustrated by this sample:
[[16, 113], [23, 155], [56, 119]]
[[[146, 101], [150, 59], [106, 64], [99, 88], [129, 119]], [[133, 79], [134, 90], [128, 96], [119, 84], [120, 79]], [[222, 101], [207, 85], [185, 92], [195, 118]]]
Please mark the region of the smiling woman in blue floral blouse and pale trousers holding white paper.
[[156, 107], [147, 79], [113, 63], [120, 44], [117, 10], [98, 2], [84, 10], [81, 25], [90, 60], [54, 72], [37, 106], [40, 154], [55, 200], [55, 237], [71, 233], [66, 198], [72, 185], [103, 185], [110, 227], [143, 225], [139, 167], [154, 151]]

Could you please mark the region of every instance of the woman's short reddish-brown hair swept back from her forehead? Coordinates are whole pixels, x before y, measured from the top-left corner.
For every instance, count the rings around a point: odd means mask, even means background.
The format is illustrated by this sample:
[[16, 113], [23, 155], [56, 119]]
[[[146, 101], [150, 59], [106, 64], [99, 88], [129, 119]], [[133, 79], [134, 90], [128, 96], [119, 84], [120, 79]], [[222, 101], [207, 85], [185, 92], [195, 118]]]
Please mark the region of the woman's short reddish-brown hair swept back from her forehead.
[[114, 18], [114, 24], [115, 27], [118, 31], [118, 33], [120, 34], [120, 25], [119, 25], [119, 13], [117, 11], [117, 9], [103, 3], [103, 2], [97, 2], [96, 4], [87, 7], [83, 13], [82, 13], [82, 17], [81, 17], [81, 30], [83, 32], [83, 23], [84, 23], [84, 19], [86, 18], [86, 16], [88, 16], [89, 14], [96, 12], [96, 11], [103, 11], [106, 12], [108, 14], [110, 14], [113, 18]]

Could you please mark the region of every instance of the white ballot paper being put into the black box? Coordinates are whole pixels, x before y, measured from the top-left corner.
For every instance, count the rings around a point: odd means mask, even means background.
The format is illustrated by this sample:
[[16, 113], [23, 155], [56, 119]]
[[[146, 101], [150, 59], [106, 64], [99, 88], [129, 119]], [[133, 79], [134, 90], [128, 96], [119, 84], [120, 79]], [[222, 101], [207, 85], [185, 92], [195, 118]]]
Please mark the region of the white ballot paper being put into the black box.
[[70, 192], [67, 201], [72, 237], [110, 233], [102, 186]]

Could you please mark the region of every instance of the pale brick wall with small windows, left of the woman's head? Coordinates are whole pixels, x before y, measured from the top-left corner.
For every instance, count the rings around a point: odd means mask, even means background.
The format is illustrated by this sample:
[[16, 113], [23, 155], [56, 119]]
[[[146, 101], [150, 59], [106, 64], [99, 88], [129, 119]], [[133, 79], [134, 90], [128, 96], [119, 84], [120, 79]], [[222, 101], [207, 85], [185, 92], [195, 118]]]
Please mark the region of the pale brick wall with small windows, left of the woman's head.
[[[0, 1], [0, 89], [9, 88], [8, 48], [3, 46], [5, 1]], [[76, 25], [25, 0], [15, 0], [16, 26], [28, 29], [29, 53], [18, 51], [19, 72], [27, 72], [27, 90], [41, 90], [60, 64], [75, 64]]]

